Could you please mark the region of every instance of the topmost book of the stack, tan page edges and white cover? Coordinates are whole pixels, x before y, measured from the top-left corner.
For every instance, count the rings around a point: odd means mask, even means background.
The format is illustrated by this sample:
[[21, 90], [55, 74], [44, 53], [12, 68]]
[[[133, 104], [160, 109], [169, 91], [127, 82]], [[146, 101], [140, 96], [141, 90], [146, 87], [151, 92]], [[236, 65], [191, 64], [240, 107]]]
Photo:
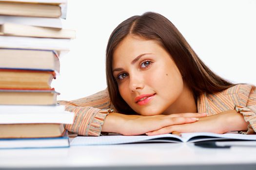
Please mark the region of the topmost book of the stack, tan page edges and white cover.
[[66, 4], [67, 0], [0, 0], [0, 14], [66, 18]]

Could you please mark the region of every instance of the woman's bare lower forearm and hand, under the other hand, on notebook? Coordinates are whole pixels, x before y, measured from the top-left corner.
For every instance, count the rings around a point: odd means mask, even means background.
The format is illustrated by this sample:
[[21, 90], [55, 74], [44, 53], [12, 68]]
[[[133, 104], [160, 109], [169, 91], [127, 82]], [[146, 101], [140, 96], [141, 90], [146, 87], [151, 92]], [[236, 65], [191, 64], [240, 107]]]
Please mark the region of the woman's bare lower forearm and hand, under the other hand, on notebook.
[[216, 115], [200, 118], [198, 121], [187, 124], [171, 125], [146, 133], [148, 136], [172, 133], [212, 132], [223, 134], [229, 131], [247, 130], [248, 122], [245, 122], [242, 114], [236, 110], [225, 111]]

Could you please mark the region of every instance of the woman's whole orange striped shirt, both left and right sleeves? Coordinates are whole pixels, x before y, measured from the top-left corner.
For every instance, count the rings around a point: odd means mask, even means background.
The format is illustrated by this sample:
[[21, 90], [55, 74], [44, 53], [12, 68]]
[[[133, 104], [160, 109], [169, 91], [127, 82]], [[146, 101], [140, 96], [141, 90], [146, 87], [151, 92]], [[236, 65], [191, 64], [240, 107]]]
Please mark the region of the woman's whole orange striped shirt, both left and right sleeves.
[[[73, 100], [58, 101], [66, 105], [65, 109], [75, 113], [73, 124], [65, 124], [65, 129], [82, 136], [99, 136], [101, 126], [108, 114], [108, 109], [114, 109], [110, 102], [107, 89], [91, 96]], [[254, 85], [235, 85], [215, 94], [201, 94], [197, 98], [198, 113], [215, 115], [227, 110], [243, 114], [249, 122], [247, 132], [256, 132], [256, 87]]]

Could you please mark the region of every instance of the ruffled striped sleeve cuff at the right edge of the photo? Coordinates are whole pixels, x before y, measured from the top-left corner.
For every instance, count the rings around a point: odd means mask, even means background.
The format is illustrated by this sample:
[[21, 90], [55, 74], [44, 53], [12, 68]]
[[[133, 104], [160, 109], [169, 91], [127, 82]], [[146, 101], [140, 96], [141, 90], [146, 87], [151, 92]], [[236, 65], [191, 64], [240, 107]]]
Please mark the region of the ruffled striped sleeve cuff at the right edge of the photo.
[[242, 134], [255, 134], [256, 133], [256, 105], [243, 107], [236, 105], [235, 109], [238, 113], [243, 114], [244, 120], [249, 122], [248, 130], [246, 132], [241, 131]]

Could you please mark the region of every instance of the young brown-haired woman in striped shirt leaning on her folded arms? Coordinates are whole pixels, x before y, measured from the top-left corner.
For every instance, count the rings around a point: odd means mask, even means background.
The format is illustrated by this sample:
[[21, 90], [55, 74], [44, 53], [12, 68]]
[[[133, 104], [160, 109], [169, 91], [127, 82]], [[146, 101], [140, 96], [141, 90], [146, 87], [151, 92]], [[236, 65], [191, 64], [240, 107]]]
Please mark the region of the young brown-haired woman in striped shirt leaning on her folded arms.
[[157, 13], [130, 17], [113, 31], [106, 76], [107, 89], [59, 101], [76, 114], [74, 123], [65, 125], [68, 131], [83, 136], [256, 132], [256, 87], [217, 76]]

